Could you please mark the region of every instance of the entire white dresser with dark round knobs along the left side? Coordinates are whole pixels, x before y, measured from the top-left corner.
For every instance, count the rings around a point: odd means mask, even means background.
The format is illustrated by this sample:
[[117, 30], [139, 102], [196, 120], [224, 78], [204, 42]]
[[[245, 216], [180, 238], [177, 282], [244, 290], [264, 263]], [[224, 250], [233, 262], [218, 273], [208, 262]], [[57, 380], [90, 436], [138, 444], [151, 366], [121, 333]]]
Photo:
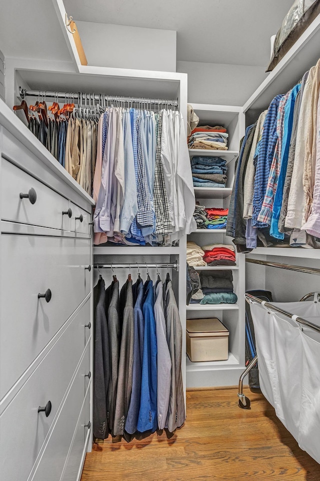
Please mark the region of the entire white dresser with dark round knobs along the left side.
[[77, 481], [91, 446], [93, 200], [0, 100], [0, 477]]

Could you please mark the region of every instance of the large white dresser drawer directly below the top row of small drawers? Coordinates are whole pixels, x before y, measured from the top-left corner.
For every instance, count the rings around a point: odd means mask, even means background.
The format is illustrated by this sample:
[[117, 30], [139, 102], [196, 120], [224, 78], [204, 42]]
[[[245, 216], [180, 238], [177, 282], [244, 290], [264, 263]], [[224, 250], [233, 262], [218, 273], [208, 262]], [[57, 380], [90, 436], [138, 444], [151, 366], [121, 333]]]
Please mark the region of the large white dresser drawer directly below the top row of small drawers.
[[90, 239], [1, 235], [0, 399], [90, 292], [89, 263]]

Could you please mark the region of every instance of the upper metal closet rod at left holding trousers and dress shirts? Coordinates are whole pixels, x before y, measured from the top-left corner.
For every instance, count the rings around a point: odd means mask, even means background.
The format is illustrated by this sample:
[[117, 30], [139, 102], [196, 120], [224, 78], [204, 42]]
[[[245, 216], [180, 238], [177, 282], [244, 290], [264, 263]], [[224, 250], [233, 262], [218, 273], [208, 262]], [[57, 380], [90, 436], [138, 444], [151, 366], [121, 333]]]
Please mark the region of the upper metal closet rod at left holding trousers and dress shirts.
[[21, 99], [25, 99], [25, 97], [43, 97], [45, 98], [50, 98], [50, 99], [64, 99], [65, 101], [71, 99], [73, 101], [77, 101], [78, 103], [80, 101], [88, 101], [88, 102], [93, 102], [97, 101], [100, 102], [101, 98], [104, 99], [105, 102], [124, 102], [124, 103], [130, 103], [130, 102], [140, 102], [142, 104], [154, 104], [154, 105], [159, 105], [159, 104], [166, 104], [166, 105], [172, 105], [174, 107], [178, 107], [179, 103], [177, 100], [167, 100], [167, 99], [145, 99], [145, 98], [139, 98], [139, 97], [121, 97], [117, 95], [106, 95], [106, 94], [91, 94], [87, 92], [77, 92], [77, 93], [72, 93], [72, 92], [49, 92], [47, 90], [25, 90], [19, 87], [19, 96]]

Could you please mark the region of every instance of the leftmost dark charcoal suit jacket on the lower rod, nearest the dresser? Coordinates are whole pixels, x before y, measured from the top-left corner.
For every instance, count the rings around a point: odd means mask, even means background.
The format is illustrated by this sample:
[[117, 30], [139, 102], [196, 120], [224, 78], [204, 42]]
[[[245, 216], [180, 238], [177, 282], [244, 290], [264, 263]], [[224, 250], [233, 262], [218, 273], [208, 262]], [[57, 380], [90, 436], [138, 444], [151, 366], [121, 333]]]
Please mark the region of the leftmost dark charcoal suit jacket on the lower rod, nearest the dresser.
[[108, 437], [107, 398], [110, 378], [109, 336], [105, 317], [105, 285], [99, 279], [93, 298], [97, 299], [93, 339], [93, 436]]

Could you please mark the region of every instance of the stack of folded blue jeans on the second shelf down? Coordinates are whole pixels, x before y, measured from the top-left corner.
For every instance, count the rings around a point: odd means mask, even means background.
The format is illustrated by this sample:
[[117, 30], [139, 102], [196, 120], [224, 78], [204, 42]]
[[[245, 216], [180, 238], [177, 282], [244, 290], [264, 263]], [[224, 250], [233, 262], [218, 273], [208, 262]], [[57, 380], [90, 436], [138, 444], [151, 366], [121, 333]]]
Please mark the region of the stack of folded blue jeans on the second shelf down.
[[225, 187], [226, 160], [196, 155], [191, 159], [194, 187]]

